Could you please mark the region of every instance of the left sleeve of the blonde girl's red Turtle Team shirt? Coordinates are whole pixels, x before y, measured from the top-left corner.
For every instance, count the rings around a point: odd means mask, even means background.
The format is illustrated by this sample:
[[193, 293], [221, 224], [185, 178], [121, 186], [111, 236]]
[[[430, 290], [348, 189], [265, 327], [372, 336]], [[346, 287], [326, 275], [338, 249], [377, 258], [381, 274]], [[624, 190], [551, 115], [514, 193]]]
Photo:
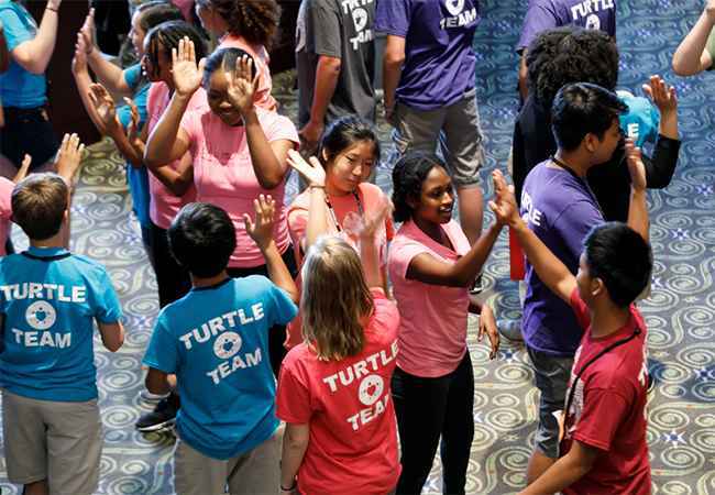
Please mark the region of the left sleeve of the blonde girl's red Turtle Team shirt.
[[297, 356], [306, 352], [294, 348], [280, 366], [276, 391], [276, 418], [292, 425], [307, 425], [312, 417], [310, 389], [306, 371], [299, 366]]

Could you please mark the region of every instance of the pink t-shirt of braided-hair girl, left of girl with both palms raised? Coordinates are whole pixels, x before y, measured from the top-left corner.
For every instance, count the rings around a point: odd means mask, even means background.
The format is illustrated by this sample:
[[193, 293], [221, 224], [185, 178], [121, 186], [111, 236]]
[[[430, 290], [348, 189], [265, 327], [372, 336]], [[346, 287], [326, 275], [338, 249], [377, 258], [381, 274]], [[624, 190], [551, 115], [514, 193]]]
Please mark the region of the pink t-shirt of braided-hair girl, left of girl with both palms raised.
[[[146, 121], [148, 123], [150, 135], [164, 114], [164, 110], [168, 107], [170, 99], [172, 95], [169, 95], [168, 86], [165, 84], [155, 84], [148, 88], [148, 92], [146, 94]], [[194, 94], [186, 111], [189, 112], [201, 108], [209, 108], [204, 88], [199, 88], [198, 91]], [[167, 166], [176, 170], [180, 163], [182, 161], [177, 160]], [[168, 226], [172, 223], [172, 220], [174, 220], [174, 217], [176, 217], [176, 213], [178, 213], [182, 208], [189, 202], [196, 201], [196, 187], [191, 186], [184, 196], [177, 198], [174, 193], [164, 186], [151, 172], [148, 174], [148, 189], [151, 195], [148, 216], [154, 224], [162, 229], [168, 229]]]

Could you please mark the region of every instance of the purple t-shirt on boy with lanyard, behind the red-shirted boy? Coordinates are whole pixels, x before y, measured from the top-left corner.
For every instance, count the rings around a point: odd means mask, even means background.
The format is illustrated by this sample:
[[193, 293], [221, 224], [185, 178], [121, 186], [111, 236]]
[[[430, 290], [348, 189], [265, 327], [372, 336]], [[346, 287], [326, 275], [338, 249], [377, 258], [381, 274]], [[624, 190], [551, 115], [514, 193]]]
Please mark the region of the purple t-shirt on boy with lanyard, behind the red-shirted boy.
[[[583, 239], [603, 223], [598, 204], [568, 170], [542, 162], [529, 173], [521, 191], [521, 218], [573, 273], [579, 270]], [[584, 184], [586, 179], [584, 178]], [[534, 350], [573, 355], [583, 337], [571, 306], [551, 292], [526, 261], [527, 285], [521, 337]]]

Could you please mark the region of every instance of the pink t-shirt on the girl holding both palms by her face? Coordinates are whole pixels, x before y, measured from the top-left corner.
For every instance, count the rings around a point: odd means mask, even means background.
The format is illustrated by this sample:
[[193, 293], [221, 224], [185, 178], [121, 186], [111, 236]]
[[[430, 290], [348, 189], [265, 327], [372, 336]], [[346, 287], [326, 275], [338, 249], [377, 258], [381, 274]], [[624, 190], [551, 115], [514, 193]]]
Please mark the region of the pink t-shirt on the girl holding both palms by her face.
[[[288, 140], [295, 143], [296, 150], [299, 147], [298, 132], [290, 120], [258, 107], [255, 112], [268, 142]], [[233, 220], [238, 242], [229, 267], [249, 268], [265, 264], [261, 250], [243, 223], [243, 213], [255, 220], [253, 200], [258, 195], [271, 195], [276, 202], [273, 240], [278, 251], [285, 253], [290, 244], [284, 204], [285, 180], [273, 190], [261, 187], [253, 170], [244, 127], [226, 125], [208, 109], [185, 113], [182, 127], [191, 136], [189, 152], [194, 158], [194, 183], [199, 201], [223, 208]]]

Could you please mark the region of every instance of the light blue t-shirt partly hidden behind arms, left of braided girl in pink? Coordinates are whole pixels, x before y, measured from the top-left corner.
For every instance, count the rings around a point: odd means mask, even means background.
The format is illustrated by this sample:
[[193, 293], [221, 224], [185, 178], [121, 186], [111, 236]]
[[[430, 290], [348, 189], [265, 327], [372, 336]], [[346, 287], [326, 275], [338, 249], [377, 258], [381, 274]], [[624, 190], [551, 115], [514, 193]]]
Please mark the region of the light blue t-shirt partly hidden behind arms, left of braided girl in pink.
[[[136, 89], [136, 87], [142, 81], [142, 66], [141, 64], [135, 64], [124, 70], [124, 80], [130, 88]], [[134, 103], [139, 108], [139, 132], [144, 128], [144, 122], [146, 121], [146, 95], [148, 94], [148, 88], [151, 84], [144, 85], [142, 89], [134, 96]], [[117, 109], [117, 117], [119, 117], [120, 122], [124, 125], [124, 129], [129, 125], [129, 120], [131, 119], [131, 113], [129, 111], [129, 105], [119, 107]], [[132, 200], [134, 201], [134, 211], [136, 211], [136, 219], [139, 223], [144, 229], [152, 228], [152, 220], [148, 216], [148, 204], [151, 200], [150, 189], [148, 189], [148, 170], [146, 167], [134, 168], [130, 164], [127, 164], [127, 183], [129, 184], [129, 191], [132, 195]]]

